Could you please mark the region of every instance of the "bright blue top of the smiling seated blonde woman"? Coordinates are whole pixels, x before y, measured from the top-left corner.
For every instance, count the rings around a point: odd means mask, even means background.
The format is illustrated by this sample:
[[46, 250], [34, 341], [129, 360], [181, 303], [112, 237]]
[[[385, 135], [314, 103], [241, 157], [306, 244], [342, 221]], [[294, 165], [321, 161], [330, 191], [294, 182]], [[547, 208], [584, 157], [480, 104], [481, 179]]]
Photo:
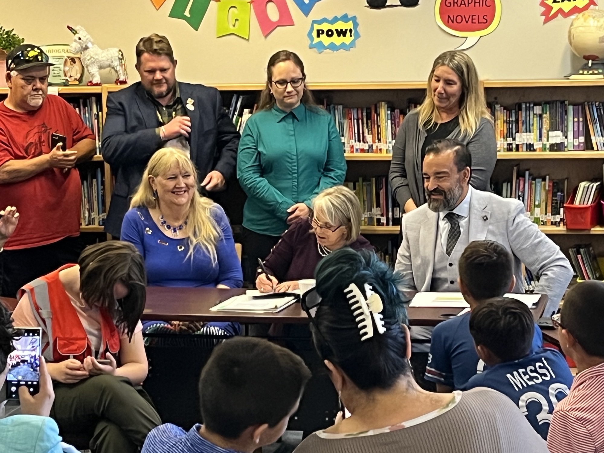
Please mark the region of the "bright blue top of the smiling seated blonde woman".
[[146, 207], [133, 208], [126, 213], [121, 239], [135, 245], [143, 255], [149, 286], [196, 288], [224, 284], [229, 288], [241, 288], [243, 274], [231, 226], [219, 205], [214, 205], [212, 215], [220, 228], [216, 263], [212, 263], [210, 255], [199, 246], [191, 261], [191, 257], [187, 257], [188, 238], [165, 236]]

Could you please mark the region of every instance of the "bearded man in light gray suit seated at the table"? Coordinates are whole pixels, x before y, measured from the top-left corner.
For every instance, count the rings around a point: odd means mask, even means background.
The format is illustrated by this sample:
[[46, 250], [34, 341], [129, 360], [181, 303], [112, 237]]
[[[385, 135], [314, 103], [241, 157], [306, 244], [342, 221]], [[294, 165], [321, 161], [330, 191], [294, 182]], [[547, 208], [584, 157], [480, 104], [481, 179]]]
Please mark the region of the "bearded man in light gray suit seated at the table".
[[459, 291], [461, 252], [474, 240], [490, 239], [513, 255], [513, 292], [524, 292], [524, 263], [539, 278], [536, 292], [547, 294], [544, 316], [551, 316], [573, 277], [570, 263], [525, 216], [521, 202], [470, 187], [471, 164], [466, 146], [457, 140], [437, 140], [426, 150], [426, 204], [403, 216], [403, 240], [395, 265], [402, 275], [405, 301], [416, 292]]

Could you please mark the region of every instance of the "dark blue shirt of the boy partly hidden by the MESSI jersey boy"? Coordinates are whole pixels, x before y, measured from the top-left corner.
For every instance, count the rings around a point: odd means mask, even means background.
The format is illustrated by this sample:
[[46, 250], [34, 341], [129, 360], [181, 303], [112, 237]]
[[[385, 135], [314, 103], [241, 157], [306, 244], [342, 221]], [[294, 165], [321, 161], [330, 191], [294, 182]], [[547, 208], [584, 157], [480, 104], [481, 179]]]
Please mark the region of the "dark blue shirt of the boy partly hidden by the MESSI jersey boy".
[[[454, 390], [464, 390], [467, 381], [482, 370], [484, 362], [478, 358], [470, 334], [470, 314], [467, 312], [455, 316], [434, 327], [426, 367], [427, 381], [448, 385]], [[533, 350], [542, 347], [543, 334], [535, 324]]]

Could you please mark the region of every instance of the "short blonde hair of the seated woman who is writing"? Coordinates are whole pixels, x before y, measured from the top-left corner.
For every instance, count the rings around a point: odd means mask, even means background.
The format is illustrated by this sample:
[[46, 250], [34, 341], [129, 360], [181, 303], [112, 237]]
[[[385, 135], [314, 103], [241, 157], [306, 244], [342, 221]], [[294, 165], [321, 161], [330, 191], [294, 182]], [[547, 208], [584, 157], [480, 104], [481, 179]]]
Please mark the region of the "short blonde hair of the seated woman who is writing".
[[336, 185], [321, 191], [312, 201], [312, 209], [333, 226], [345, 226], [347, 244], [355, 242], [361, 234], [361, 204], [348, 187]]

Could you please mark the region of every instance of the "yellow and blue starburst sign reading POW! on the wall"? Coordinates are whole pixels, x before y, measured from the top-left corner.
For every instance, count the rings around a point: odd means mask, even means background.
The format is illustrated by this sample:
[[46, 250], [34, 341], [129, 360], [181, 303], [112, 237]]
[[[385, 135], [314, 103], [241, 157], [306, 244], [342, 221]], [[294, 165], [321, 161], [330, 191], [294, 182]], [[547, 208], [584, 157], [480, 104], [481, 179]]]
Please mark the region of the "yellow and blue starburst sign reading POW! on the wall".
[[310, 40], [309, 48], [321, 53], [324, 50], [350, 50], [355, 47], [361, 34], [356, 16], [344, 14], [333, 19], [312, 21], [307, 36]]

